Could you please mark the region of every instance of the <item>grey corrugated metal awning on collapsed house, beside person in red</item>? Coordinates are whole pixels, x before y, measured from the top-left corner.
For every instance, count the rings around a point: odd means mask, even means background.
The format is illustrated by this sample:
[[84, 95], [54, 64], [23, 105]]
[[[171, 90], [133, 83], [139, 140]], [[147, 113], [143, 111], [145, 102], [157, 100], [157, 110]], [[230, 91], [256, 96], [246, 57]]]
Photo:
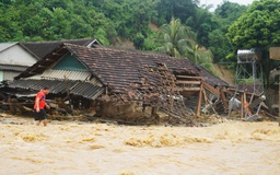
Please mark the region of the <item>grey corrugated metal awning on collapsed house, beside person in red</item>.
[[71, 94], [90, 100], [95, 100], [104, 92], [104, 88], [95, 81], [14, 80], [9, 83], [9, 88], [24, 90], [39, 91], [45, 86], [50, 88], [52, 94], [63, 94], [69, 90]]

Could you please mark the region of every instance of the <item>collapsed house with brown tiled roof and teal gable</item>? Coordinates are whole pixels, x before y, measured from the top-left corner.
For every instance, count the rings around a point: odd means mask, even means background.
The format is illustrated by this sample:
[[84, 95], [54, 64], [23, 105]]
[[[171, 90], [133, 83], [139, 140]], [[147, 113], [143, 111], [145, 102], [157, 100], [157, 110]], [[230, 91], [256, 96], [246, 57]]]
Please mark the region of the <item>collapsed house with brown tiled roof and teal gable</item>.
[[115, 120], [159, 120], [158, 112], [163, 112], [168, 120], [187, 124], [190, 116], [200, 115], [202, 100], [205, 110], [214, 110], [217, 102], [228, 109], [222, 93], [226, 82], [187, 59], [139, 51], [65, 43], [15, 77], [5, 91], [34, 100], [45, 86], [50, 88], [48, 98], [56, 108], [90, 109]]

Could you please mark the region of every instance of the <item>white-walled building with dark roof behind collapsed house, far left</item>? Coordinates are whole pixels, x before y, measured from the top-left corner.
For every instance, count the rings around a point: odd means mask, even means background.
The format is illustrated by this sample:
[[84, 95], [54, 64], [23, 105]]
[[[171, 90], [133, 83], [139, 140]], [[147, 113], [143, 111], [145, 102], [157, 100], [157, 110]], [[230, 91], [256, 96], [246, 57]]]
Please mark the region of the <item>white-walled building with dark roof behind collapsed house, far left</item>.
[[14, 42], [0, 44], [0, 82], [11, 81], [26, 68], [33, 66], [62, 43], [86, 47], [98, 47], [102, 44], [95, 38], [56, 40], [56, 42]]

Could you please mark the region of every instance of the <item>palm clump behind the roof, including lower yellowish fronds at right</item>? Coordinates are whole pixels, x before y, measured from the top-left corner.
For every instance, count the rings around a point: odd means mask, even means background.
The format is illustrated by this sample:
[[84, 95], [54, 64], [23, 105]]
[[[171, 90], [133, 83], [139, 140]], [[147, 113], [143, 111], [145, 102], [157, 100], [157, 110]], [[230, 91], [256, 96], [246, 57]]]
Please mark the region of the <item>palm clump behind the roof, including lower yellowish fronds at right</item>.
[[156, 39], [160, 47], [156, 50], [172, 57], [185, 57], [195, 65], [214, 72], [212, 52], [205, 47], [199, 47], [196, 35], [179, 20], [172, 19], [170, 24], [162, 25], [158, 31]]

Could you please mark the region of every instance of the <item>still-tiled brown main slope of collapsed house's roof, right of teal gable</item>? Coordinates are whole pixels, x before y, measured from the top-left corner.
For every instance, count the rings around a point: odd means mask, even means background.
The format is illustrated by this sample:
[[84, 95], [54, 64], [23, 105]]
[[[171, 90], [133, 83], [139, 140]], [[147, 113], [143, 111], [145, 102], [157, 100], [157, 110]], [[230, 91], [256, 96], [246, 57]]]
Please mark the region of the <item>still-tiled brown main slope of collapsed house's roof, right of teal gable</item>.
[[66, 47], [114, 91], [126, 90], [131, 83], [139, 83], [139, 78], [144, 75], [143, 68], [156, 67], [158, 63], [165, 63], [173, 71], [198, 73], [187, 59], [108, 48], [84, 48], [70, 44], [66, 44]]

